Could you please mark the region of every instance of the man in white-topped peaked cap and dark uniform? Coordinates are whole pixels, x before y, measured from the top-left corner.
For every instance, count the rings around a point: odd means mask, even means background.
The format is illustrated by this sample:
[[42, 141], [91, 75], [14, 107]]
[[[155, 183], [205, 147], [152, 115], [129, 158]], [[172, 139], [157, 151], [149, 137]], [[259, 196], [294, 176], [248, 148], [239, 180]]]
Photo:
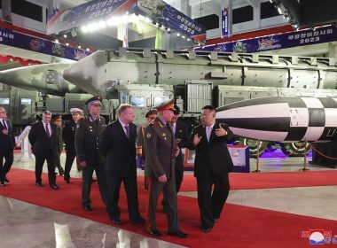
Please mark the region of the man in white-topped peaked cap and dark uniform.
[[76, 130], [76, 123], [83, 118], [83, 111], [79, 108], [70, 109], [73, 119], [66, 122], [63, 128], [63, 140], [66, 143], [66, 165], [64, 180], [66, 183], [70, 182], [70, 170], [76, 157], [74, 150], [74, 131]]

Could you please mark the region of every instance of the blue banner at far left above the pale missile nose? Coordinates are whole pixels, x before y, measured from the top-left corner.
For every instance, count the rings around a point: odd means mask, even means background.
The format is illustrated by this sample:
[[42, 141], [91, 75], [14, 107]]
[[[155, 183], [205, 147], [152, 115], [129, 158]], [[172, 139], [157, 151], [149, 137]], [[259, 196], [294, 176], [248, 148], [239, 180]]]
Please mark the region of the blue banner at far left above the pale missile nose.
[[12, 30], [0, 28], [0, 44], [25, 50], [34, 50], [51, 56], [79, 60], [90, 55], [90, 51], [54, 43], [35, 36], [24, 35]]

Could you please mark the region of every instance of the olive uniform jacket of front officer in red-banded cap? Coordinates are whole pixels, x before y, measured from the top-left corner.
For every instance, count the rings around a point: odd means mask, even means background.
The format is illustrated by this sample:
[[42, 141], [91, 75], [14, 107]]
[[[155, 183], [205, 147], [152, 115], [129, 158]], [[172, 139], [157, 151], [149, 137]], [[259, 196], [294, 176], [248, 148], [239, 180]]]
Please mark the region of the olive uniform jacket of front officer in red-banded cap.
[[174, 176], [176, 139], [172, 129], [156, 119], [145, 128], [145, 176], [158, 178], [166, 174], [168, 180]]

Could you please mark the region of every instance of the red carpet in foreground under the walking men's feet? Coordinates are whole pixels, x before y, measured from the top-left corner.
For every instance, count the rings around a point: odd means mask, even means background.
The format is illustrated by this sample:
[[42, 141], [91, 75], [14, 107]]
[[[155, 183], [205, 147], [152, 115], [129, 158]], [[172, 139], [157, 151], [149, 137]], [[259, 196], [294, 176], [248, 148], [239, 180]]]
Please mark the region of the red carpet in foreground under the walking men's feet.
[[[101, 203], [97, 183], [93, 184], [91, 190], [94, 211], [88, 213], [81, 208], [81, 180], [79, 179], [74, 179], [71, 184], [65, 184], [58, 177], [60, 190], [50, 190], [47, 186], [35, 187], [35, 176], [32, 171], [12, 169], [9, 178], [12, 182], [0, 188], [0, 194], [3, 196], [111, 224]], [[43, 174], [43, 182], [47, 184], [46, 174]], [[140, 211], [145, 216], [145, 192], [143, 185], [139, 185], [139, 188]], [[123, 221], [121, 228], [146, 235], [144, 226], [131, 225], [127, 221], [129, 217], [124, 190], [121, 190], [120, 206], [121, 221]], [[216, 227], [210, 233], [204, 234], [200, 231], [197, 199], [179, 197], [178, 212], [181, 227], [189, 233], [189, 238], [179, 239], [165, 235], [162, 240], [188, 247], [312, 247], [309, 245], [308, 238], [302, 238], [303, 231], [325, 229], [337, 235], [337, 221], [231, 204], [225, 205], [223, 216], [216, 223]], [[166, 231], [166, 215], [158, 213], [157, 220], [159, 229]], [[333, 245], [335, 244], [325, 246], [334, 247]]]

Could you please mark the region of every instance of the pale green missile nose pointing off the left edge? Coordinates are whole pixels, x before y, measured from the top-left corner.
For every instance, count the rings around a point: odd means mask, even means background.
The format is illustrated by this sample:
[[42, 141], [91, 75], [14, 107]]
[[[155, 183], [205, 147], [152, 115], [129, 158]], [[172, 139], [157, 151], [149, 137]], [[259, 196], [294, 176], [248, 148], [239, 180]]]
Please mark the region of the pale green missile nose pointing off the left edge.
[[64, 96], [68, 92], [84, 93], [82, 89], [63, 78], [63, 70], [70, 65], [54, 63], [9, 69], [0, 72], [0, 82], [56, 96]]

